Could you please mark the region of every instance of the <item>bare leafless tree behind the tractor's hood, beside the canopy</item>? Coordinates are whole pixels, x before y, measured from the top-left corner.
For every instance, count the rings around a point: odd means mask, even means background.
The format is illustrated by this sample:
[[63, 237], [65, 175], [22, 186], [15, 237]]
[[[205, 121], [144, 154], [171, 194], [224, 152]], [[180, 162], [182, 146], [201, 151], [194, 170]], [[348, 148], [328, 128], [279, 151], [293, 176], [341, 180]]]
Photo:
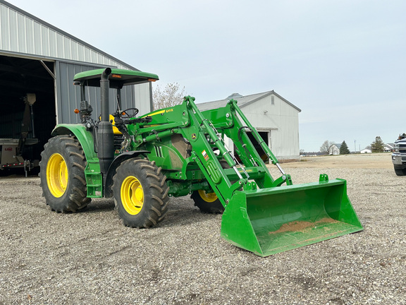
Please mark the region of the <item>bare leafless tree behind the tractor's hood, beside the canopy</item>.
[[180, 90], [178, 83], [168, 83], [164, 90], [161, 90], [159, 85], [156, 85], [156, 88], [152, 92], [154, 110], [181, 104], [185, 95], [187, 95], [185, 87]]

